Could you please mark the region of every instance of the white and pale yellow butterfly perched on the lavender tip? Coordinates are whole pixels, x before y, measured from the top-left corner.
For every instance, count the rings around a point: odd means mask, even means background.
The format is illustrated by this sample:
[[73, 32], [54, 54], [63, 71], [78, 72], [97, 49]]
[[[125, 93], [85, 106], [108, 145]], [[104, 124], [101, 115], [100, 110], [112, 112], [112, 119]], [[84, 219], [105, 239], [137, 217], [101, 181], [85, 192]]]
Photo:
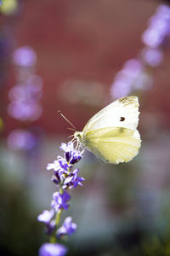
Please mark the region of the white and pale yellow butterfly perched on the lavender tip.
[[74, 137], [104, 162], [119, 164], [132, 160], [139, 153], [138, 123], [138, 97], [126, 96], [96, 113]]

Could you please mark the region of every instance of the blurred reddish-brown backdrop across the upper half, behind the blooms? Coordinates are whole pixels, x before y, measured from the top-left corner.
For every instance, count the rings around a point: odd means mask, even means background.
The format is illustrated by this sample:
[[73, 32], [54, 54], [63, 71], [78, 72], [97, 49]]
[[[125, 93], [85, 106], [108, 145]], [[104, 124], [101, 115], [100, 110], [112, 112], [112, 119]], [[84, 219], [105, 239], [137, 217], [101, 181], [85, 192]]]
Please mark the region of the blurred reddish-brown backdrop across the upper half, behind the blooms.
[[[111, 101], [110, 86], [124, 61], [139, 54], [141, 33], [159, 2], [141, 0], [27, 0], [20, 2], [18, 15], [8, 19], [14, 48], [30, 45], [37, 52], [37, 74], [43, 79], [42, 117], [36, 124], [51, 133], [65, 132], [60, 109], [78, 129]], [[3, 21], [2, 19], [2, 21]], [[161, 67], [154, 71], [154, 87], [146, 93], [144, 109], [161, 111], [169, 125], [169, 51]], [[105, 84], [105, 102], [100, 107], [71, 105], [59, 91], [65, 80], [93, 80]], [[8, 88], [14, 76], [8, 73]], [[8, 104], [8, 100], [6, 105]], [[17, 126], [5, 117], [6, 131]]]

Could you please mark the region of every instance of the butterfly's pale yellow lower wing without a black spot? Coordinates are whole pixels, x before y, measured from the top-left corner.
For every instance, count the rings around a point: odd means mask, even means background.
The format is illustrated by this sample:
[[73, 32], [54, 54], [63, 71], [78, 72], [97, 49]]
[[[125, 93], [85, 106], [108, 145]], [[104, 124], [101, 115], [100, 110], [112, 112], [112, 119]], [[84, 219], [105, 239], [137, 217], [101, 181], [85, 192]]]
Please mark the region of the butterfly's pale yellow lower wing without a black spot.
[[139, 131], [123, 127], [107, 127], [90, 131], [83, 137], [83, 145], [106, 163], [128, 162], [139, 153]]

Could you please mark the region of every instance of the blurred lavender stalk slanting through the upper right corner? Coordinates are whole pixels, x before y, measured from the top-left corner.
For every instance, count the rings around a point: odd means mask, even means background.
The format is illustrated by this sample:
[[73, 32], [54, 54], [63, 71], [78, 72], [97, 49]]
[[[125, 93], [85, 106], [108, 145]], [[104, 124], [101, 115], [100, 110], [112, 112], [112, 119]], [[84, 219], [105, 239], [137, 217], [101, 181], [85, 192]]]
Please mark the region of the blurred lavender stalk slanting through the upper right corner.
[[127, 96], [135, 90], [150, 90], [153, 84], [148, 66], [157, 67], [163, 61], [162, 49], [170, 47], [170, 7], [161, 4], [149, 20], [149, 26], [142, 34], [145, 45], [139, 59], [125, 62], [111, 85], [113, 98]]

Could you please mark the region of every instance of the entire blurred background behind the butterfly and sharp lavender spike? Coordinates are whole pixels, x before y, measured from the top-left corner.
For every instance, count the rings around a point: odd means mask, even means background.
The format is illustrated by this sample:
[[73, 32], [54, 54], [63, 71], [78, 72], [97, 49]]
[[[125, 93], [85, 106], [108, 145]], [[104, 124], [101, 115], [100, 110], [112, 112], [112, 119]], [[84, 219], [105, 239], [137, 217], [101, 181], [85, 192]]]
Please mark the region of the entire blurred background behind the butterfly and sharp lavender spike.
[[139, 96], [142, 147], [127, 164], [86, 152], [71, 192], [68, 255], [170, 255], [170, 7], [154, 0], [0, 1], [0, 255], [47, 241], [53, 162], [116, 98]]

